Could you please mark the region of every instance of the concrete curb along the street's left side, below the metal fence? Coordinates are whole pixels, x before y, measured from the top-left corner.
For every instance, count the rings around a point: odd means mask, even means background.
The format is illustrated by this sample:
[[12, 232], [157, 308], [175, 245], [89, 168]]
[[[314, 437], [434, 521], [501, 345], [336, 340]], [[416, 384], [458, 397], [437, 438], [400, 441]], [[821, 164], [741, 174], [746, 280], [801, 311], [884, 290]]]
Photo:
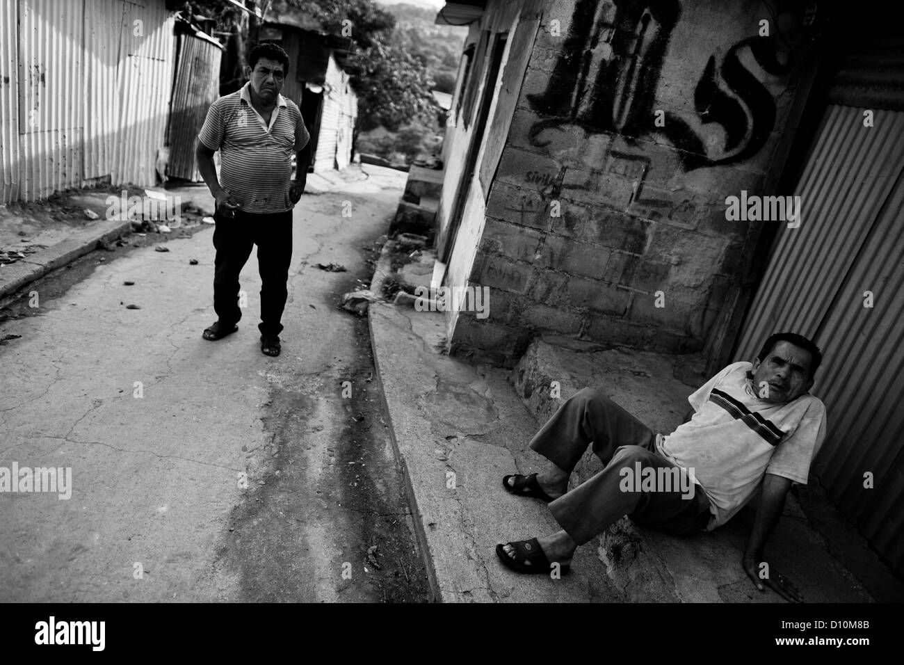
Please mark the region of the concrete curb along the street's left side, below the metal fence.
[[99, 224], [89, 232], [76, 234], [76, 237], [67, 238], [48, 247], [41, 252], [31, 254], [28, 259], [16, 261], [0, 269], [0, 280], [6, 280], [12, 274], [9, 281], [0, 283], [0, 298], [22, 289], [35, 280], [41, 279], [48, 272], [61, 268], [76, 259], [94, 252], [101, 242], [112, 242], [123, 233], [131, 233], [132, 223], [112, 220]]

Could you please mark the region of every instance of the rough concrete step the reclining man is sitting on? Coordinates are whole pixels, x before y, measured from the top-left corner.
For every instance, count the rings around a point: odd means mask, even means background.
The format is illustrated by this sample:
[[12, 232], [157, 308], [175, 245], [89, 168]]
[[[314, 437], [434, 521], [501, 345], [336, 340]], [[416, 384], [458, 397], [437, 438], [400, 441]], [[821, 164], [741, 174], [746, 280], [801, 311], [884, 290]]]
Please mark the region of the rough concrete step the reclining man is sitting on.
[[[690, 408], [687, 396], [708, 377], [700, 355], [673, 356], [582, 344], [562, 337], [534, 340], [511, 380], [544, 423], [579, 389], [598, 388], [656, 432], [672, 432]], [[554, 396], [558, 382], [560, 396]], [[602, 468], [588, 452], [571, 476], [577, 486]], [[753, 502], [751, 502], [752, 504]], [[598, 537], [599, 556], [618, 592], [632, 602], [782, 603], [760, 593], [740, 567], [752, 505], [709, 533], [671, 537], [622, 518]], [[827, 551], [793, 496], [767, 545], [770, 560], [807, 602], [869, 602], [862, 585]]]

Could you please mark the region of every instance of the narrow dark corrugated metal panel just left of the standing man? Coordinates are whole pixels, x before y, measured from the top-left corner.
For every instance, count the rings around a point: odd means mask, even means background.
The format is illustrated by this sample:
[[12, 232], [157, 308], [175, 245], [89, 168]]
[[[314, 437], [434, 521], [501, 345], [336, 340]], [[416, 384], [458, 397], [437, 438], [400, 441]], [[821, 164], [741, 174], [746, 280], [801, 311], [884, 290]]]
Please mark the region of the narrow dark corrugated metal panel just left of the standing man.
[[179, 62], [166, 142], [170, 146], [170, 176], [200, 182], [194, 147], [207, 109], [220, 96], [222, 48], [192, 34], [179, 34]]

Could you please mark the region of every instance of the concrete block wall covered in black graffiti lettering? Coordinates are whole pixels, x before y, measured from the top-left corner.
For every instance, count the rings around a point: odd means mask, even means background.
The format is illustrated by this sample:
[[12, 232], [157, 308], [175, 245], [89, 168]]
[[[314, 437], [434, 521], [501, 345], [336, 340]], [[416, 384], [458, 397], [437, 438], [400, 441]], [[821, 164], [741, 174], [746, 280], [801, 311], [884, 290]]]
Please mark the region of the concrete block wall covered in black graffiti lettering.
[[750, 0], [548, 5], [470, 271], [490, 316], [462, 312], [451, 351], [511, 366], [541, 333], [700, 350], [758, 223], [726, 221], [725, 198], [770, 194], [782, 166], [800, 71], [776, 28]]

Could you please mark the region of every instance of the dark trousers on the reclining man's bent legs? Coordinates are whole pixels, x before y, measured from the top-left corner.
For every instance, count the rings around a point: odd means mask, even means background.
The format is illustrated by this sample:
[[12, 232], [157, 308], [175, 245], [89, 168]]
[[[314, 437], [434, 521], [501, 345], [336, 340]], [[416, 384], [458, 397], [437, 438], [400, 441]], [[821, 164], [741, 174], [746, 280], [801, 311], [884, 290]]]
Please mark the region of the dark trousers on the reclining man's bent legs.
[[[606, 467], [550, 503], [552, 517], [579, 545], [625, 515], [672, 534], [706, 527], [710, 501], [702, 488], [692, 485], [692, 497], [677, 489], [675, 465], [655, 451], [654, 432], [597, 390], [584, 388], [562, 404], [533, 437], [531, 448], [570, 473], [590, 443]], [[636, 485], [626, 490], [624, 469], [632, 477], [650, 469], [645, 473], [659, 480], [652, 490]]]

